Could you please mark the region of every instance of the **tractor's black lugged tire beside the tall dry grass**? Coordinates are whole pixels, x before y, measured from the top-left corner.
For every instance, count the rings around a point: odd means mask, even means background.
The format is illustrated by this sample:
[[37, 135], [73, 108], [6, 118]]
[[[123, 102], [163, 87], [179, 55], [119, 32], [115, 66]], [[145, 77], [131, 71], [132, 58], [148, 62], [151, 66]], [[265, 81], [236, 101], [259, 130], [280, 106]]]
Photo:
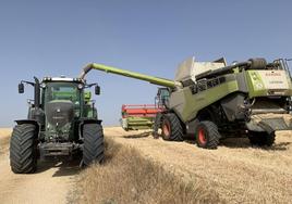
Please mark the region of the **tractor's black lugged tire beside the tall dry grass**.
[[83, 126], [83, 164], [86, 166], [94, 162], [100, 164], [105, 158], [102, 126], [99, 124], [85, 124]]

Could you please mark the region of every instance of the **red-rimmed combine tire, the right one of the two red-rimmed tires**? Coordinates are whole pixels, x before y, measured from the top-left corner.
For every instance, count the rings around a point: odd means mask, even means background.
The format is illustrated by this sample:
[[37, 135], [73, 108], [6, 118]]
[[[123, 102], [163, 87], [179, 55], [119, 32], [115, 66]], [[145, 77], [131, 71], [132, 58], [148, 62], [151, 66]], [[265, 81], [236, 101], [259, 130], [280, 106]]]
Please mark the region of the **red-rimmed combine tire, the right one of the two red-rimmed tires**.
[[196, 127], [196, 142], [199, 148], [217, 149], [221, 136], [217, 125], [209, 120], [200, 122]]

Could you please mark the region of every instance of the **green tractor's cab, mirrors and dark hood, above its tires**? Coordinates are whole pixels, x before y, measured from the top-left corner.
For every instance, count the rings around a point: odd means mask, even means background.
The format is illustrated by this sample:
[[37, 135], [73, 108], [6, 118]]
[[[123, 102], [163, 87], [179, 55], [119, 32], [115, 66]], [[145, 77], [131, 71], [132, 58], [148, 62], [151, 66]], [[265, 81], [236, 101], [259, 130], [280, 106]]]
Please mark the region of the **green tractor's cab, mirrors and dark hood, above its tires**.
[[92, 92], [87, 88], [95, 86], [96, 94], [100, 88], [97, 84], [86, 84], [80, 78], [45, 77], [40, 82], [22, 81], [19, 92], [24, 92], [23, 84], [33, 85], [35, 100], [31, 102], [28, 119], [36, 120], [40, 127], [40, 140], [68, 141], [78, 138], [75, 133], [81, 118], [97, 119]]

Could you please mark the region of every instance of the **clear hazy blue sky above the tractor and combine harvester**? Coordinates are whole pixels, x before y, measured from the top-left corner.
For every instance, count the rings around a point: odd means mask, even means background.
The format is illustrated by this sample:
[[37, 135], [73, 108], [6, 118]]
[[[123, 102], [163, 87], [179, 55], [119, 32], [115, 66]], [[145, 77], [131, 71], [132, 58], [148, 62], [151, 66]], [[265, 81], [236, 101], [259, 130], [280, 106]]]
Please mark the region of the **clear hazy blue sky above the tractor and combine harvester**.
[[[224, 56], [292, 58], [292, 1], [284, 0], [0, 0], [0, 127], [26, 118], [34, 76], [76, 77], [97, 62], [173, 79], [178, 64]], [[104, 125], [122, 104], [154, 103], [157, 86], [93, 71]]]

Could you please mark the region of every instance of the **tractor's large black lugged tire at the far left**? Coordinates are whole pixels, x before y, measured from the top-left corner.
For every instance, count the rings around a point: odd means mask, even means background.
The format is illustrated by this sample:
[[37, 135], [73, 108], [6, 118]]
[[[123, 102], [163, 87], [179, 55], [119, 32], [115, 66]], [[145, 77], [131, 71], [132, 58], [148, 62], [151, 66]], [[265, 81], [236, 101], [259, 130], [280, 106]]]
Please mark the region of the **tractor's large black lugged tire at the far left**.
[[16, 125], [10, 140], [10, 166], [15, 174], [32, 174], [37, 168], [36, 126]]

